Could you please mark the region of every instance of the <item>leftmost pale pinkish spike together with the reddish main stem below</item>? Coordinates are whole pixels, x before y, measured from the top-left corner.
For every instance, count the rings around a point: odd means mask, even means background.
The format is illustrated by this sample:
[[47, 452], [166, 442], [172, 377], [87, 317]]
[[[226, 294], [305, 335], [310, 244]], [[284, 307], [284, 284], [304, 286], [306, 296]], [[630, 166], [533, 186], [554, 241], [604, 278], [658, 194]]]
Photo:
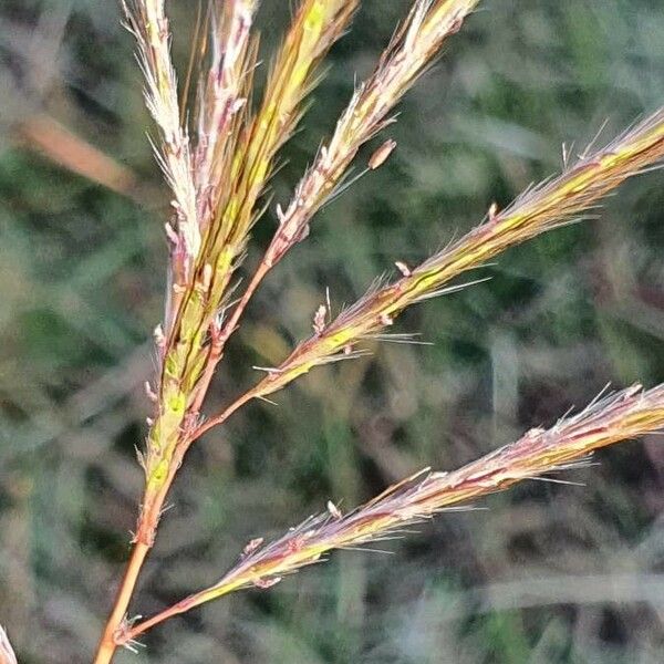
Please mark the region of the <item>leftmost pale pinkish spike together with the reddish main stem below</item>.
[[[170, 31], [164, 0], [122, 0], [127, 27], [138, 46], [138, 62], [146, 82], [145, 98], [160, 134], [160, 149], [156, 149], [166, 181], [173, 195], [176, 228], [166, 225], [172, 242], [168, 287], [165, 305], [165, 329], [174, 336], [175, 320], [183, 303], [183, 283], [191, 280], [200, 250], [200, 228], [197, 216], [197, 189], [193, 173], [193, 151], [188, 131], [181, 123], [177, 76], [170, 58]], [[166, 335], [160, 325], [156, 331], [159, 362], [167, 359]], [[173, 365], [173, 363], [172, 363]], [[157, 406], [155, 427], [148, 435], [147, 453], [139, 455], [146, 471], [146, 488], [134, 547], [106, 626], [102, 633], [95, 664], [106, 664], [116, 650], [115, 633], [123, 623], [143, 563], [153, 546], [156, 523], [166, 496], [164, 486], [173, 478], [168, 460], [174, 454], [184, 421], [184, 401], [173, 382], [164, 380], [159, 395], [148, 393]], [[151, 445], [152, 442], [152, 445]]]

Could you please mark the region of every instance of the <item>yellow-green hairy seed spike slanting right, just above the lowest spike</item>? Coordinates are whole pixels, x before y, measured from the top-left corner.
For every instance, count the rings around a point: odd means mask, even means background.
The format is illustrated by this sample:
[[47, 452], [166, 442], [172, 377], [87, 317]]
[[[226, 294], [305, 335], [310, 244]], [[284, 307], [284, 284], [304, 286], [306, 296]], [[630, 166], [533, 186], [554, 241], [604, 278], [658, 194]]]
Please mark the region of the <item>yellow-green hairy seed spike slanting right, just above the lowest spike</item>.
[[[325, 320], [330, 312], [323, 305], [323, 315], [314, 320], [314, 334], [282, 364], [267, 370], [264, 378], [241, 397], [241, 403], [266, 397], [315, 366], [355, 356], [357, 342], [387, 339], [383, 331], [411, 304], [456, 290], [459, 287], [446, 287], [455, 277], [481, 267], [509, 247], [578, 219], [627, 177], [662, 157], [664, 108], [603, 149], [582, 155], [562, 175], [532, 187], [505, 210], [491, 206], [480, 226], [416, 268], [397, 262], [400, 280], [378, 283], [330, 323]], [[224, 422], [227, 415], [225, 412], [209, 418], [196, 435]]]

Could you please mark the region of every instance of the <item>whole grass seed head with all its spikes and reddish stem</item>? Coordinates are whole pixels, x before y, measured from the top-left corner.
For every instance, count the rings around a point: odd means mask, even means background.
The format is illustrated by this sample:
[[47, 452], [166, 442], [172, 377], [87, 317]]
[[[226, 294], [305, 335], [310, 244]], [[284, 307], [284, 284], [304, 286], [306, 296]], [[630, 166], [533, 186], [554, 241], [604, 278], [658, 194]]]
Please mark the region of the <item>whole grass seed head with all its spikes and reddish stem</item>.
[[[370, 1], [370, 0], [367, 0]], [[510, 206], [487, 205], [466, 236], [419, 264], [394, 257], [394, 279], [380, 279], [357, 302], [333, 317], [329, 300], [312, 312], [312, 333], [263, 377], [218, 413], [204, 403], [216, 367], [252, 295], [272, 269], [311, 232], [313, 217], [352, 181], [360, 149], [372, 156], [361, 175], [390, 158], [396, 145], [385, 129], [403, 95], [458, 32], [479, 0], [415, 0], [373, 72], [355, 86], [334, 132], [324, 138], [290, 200], [276, 205], [279, 226], [258, 267], [238, 286], [252, 226], [264, 210], [284, 144], [298, 128], [320, 83], [330, 48], [350, 29], [360, 0], [301, 0], [271, 59], [260, 98], [252, 93], [259, 66], [253, 20], [258, 0], [210, 0], [191, 48], [191, 72], [178, 85], [165, 0], [126, 0], [126, 23], [136, 39], [154, 144], [172, 197], [164, 220], [169, 269], [163, 321], [154, 331], [158, 366], [146, 391], [154, 411], [139, 452], [145, 488], [132, 553], [95, 662], [168, 618], [247, 587], [268, 589], [328, 552], [394, 535], [471, 498], [523, 479], [584, 463], [592, 450], [664, 427], [664, 387], [633, 385], [598, 397], [549, 429], [532, 429], [450, 473], [424, 469], [370, 502], [342, 513], [331, 501], [319, 516], [267, 543], [250, 541], [221, 580], [148, 619], [129, 614], [134, 589], [155, 543], [173, 480], [189, 447], [247, 403], [267, 398], [318, 365], [352, 361], [366, 342], [408, 341], [392, 332], [409, 305], [471, 284], [455, 281], [502, 251], [582, 219], [624, 179], [664, 156], [664, 110], [654, 112], [603, 148], [588, 148], [564, 170], [530, 187]], [[349, 75], [352, 75], [350, 73]], [[189, 84], [197, 81], [197, 85]], [[194, 90], [190, 90], [195, 87]], [[305, 251], [305, 247], [302, 249]], [[322, 504], [326, 498], [321, 497]], [[9, 652], [9, 651], [8, 651]]]

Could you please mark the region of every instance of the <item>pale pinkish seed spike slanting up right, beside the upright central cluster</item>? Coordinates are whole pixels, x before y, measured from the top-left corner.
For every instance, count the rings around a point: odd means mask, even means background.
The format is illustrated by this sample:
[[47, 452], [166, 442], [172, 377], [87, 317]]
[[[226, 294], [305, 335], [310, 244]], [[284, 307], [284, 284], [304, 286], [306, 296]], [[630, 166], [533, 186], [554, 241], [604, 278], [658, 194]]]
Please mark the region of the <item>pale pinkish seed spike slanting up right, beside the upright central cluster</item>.
[[[334, 195], [360, 147], [392, 122], [387, 118], [388, 113], [439, 52], [445, 39], [459, 30], [464, 18], [478, 1], [415, 2], [373, 74], [355, 91], [334, 135], [319, 151], [315, 163], [298, 185], [290, 205], [280, 214], [280, 228], [266, 253], [269, 266], [278, 262], [305, 237], [309, 220]], [[394, 147], [394, 144], [386, 145]], [[370, 163], [369, 167], [377, 166]]]

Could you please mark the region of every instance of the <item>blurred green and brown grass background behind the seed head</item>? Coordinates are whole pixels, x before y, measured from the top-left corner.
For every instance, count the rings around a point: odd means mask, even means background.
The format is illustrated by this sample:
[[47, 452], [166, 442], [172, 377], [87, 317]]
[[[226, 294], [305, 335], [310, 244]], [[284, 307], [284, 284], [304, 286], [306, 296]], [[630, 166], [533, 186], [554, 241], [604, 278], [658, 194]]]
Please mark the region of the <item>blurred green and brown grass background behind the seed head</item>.
[[[196, 2], [169, 2], [178, 63]], [[284, 201], [372, 68], [404, 0], [365, 0], [273, 183]], [[288, 3], [263, 0], [264, 61]], [[23, 664], [86, 662], [127, 554], [135, 446], [160, 320], [168, 209], [113, 1], [0, 3], [0, 623]], [[394, 260], [415, 263], [664, 102], [660, 0], [488, 0], [401, 106], [398, 149], [315, 220], [234, 340], [210, 396], [255, 380]], [[56, 162], [60, 162], [58, 164]], [[76, 175], [84, 170], [101, 179]], [[115, 189], [115, 190], [114, 190]], [[256, 263], [276, 219], [255, 232]], [[252, 537], [453, 468], [549, 425], [606, 383], [664, 380], [664, 187], [502, 256], [408, 312], [383, 345], [250, 405], [191, 452], [136, 613], [215, 581]], [[176, 619], [118, 663], [658, 663], [664, 449], [655, 436], [443, 515], [390, 554], [341, 552]], [[478, 506], [479, 507], [479, 506]]]

